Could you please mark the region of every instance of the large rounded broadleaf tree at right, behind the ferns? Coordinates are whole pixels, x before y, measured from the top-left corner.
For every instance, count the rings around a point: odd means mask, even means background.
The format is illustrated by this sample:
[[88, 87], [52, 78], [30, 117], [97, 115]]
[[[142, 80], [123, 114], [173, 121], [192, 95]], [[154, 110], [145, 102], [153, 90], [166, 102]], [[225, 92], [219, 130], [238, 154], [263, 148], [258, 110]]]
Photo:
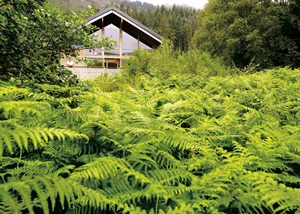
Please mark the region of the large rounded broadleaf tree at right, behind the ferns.
[[299, 62], [297, 44], [282, 33], [281, 4], [271, 0], [214, 0], [199, 15], [193, 42], [229, 65], [260, 67]]

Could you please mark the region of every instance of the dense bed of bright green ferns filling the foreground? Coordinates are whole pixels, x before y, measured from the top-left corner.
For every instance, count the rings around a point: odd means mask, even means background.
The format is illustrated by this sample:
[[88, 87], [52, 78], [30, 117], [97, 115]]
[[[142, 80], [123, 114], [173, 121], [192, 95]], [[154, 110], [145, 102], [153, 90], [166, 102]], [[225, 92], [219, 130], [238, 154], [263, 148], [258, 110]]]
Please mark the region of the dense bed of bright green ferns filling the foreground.
[[2, 86], [0, 212], [299, 211], [300, 70], [191, 75]]

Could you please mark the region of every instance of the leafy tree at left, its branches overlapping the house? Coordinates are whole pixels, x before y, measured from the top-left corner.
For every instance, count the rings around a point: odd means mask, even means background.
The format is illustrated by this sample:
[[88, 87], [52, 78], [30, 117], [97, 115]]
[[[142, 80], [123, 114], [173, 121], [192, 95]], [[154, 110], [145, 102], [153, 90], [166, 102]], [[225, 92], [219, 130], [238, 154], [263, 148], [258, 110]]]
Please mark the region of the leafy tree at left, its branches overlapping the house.
[[[63, 52], [78, 56], [78, 46], [112, 47], [108, 39], [98, 41], [90, 34], [85, 14], [66, 20], [44, 0], [4, 0], [0, 8], [0, 80], [58, 84], [71, 72], [60, 66]], [[42, 7], [43, 6], [43, 7]], [[75, 46], [76, 45], [76, 46]]]

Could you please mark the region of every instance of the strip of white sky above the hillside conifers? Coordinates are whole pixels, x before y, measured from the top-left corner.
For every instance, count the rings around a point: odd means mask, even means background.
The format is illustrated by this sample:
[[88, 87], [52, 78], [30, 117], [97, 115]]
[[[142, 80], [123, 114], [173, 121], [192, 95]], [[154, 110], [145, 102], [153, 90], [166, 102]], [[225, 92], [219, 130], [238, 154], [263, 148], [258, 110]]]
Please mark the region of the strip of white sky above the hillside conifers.
[[176, 5], [182, 5], [186, 4], [188, 6], [195, 7], [197, 9], [202, 9], [206, 3], [208, 3], [208, 0], [146, 0], [142, 2], [151, 3], [153, 5], [162, 5], [162, 4], [171, 4], [174, 3]]

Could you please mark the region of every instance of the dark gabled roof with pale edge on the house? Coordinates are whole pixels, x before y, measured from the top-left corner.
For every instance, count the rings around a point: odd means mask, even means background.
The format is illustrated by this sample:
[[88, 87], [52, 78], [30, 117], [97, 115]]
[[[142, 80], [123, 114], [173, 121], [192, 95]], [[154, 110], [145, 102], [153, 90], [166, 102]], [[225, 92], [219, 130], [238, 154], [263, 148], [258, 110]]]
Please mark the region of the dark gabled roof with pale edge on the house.
[[[88, 17], [86, 20], [88, 21], [88, 24], [96, 25], [99, 28], [106, 27], [110, 24], [120, 28], [122, 23], [123, 31], [136, 39], [139, 38], [141, 42], [145, 43], [149, 47], [157, 48], [162, 44], [162, 38], [160, 35], [114, 6], [108, 7], [105, 10], [96, 13]], [[123, 22], [121, 22], [121, 20], [123, 20]]]

